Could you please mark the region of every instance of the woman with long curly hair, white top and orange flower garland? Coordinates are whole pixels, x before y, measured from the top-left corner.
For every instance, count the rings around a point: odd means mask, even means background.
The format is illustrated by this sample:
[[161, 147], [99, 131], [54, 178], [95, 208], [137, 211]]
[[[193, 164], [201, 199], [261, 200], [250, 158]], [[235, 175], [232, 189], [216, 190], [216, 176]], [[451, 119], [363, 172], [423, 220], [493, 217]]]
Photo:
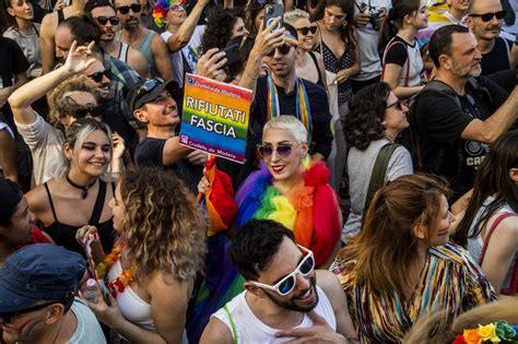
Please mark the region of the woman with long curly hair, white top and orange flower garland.
[[[205, 251], [205, 221], [193, 197], [175, 175], [144, 167], [122, 176], [109, 205], [119, 239], [97, 273], [115, 298], [110, 306], [102, 297], [87, 305], [131, 343], [186, 341], [187, 306]], [[78, 240], [94, 230], [81, 228]]]

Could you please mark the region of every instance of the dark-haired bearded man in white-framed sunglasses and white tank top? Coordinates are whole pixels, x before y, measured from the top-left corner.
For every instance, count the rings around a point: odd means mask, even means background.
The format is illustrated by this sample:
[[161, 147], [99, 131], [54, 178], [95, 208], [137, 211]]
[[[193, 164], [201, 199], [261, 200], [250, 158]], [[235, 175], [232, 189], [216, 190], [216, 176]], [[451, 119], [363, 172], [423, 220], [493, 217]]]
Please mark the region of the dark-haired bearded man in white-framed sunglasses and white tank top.
[[211, 317], [200, 343], [271, 343], [280, 331], [311, 328], [315, 313], [343, 342], [357, 339], [337, 276], [315, 271], [313, 252], [282, 224], [250, 221], [236, 232], [229, 253], [245, 292]]

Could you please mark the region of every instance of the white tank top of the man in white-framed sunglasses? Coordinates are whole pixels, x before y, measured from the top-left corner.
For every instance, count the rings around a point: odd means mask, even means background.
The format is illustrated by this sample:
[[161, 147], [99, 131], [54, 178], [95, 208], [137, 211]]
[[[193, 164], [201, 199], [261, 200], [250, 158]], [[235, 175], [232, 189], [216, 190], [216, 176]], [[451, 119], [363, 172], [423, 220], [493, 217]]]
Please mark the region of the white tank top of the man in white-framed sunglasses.
[[[283, 343], [294, 340], [294, 337], [275, 337], [275, 333], [281, 331], [270, 328], [259, 320], [251, 311], [246, 301], [246, 290], [234, 297], [224, 308], [221, 308], [211, 317], [216, 317], [224, 324], [234, 337], [234, 343]], [[337, 330], [337, 318], [329, 299], [323, 290], [317, 285], [318, 304], [315, 307], [317, 315], [326, 319], [328, 324]], [[226, 309], [225, 309], [226, 308]], [[228, 312], [227, 312], [228, 311]], [[232, 318], [232, 319], [231, 319]], [[303, 321], [295, 329], [307, 329], [313, 327], [313, 320], [304, 315]], [[233, 330], [234, 328], [234, 330]], [[235, 337], [237, 335], [237, 339]]]

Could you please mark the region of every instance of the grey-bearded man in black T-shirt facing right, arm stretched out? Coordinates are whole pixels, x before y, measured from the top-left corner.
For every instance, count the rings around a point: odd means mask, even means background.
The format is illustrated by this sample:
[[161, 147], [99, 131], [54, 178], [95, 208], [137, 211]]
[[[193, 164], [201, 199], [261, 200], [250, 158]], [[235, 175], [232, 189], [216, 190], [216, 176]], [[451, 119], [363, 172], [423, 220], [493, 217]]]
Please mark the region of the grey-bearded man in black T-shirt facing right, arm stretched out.
[[[464, 26], [438, 28], [429, 40], [437, 69], [410, 116], [417, 169], [445, 177], [457, 200], [473, 187], [488, 144], [518, 115], [518, 87], [506, 93], [481, 73], [476, 39]], [[399, 105], [400, 106], [400, 105]]]

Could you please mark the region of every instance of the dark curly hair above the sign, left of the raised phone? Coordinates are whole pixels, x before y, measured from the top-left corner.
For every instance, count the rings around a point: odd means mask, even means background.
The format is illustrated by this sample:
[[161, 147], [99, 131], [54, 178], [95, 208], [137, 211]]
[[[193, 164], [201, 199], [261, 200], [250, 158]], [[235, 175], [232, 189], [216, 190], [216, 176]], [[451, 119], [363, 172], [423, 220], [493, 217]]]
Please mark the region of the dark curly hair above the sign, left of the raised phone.
[[244, 17], [243, 10], [215, 8], [208, 17], [205, 32], [201, 37], [201, 52], [212, 48], [223, 49], [232, 36], [232, 29], [238, 17]]

